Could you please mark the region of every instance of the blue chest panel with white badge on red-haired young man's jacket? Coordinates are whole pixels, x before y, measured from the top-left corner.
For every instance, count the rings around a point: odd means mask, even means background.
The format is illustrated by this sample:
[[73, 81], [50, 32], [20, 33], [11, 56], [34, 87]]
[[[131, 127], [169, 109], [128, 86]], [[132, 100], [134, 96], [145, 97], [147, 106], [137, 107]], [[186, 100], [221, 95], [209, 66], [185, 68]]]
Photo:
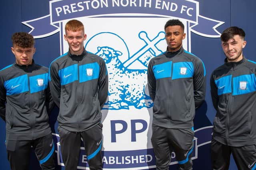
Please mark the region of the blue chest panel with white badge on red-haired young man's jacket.
[[89, 63], [79, 66], [79, 82], [86, 82], [97, 79], [100, 75], [100, 66], [98, 63]]

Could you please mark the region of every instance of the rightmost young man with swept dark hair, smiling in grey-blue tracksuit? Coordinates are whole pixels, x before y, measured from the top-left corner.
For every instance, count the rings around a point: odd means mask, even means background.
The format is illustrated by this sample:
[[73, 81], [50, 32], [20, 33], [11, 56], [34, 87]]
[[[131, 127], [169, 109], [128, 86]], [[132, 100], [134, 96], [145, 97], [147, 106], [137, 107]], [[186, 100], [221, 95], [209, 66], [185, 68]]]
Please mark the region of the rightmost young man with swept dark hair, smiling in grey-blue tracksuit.
[[256, 169], [256, 63], [243, 56], [241, 28], [220, 36], [225, 63], [212, 73], [212, 103], [216, 109], [212, 135], [212, 169], [228, 170], [232, 153], [239, 170]]

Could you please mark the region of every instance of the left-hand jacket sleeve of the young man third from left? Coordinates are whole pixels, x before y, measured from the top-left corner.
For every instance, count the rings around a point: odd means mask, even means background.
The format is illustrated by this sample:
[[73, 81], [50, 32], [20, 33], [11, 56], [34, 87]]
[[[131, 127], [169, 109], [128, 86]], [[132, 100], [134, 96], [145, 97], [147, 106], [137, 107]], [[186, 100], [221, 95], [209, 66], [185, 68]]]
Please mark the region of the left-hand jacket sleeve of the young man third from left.
[[150, 60], [150, 62], [148, 64], [148, 92], [149, 92], [150, 98], [154, 102], [155, 96], [156, 96], [156, 78], [155, 78], [154, 72], [153, 72], [152, 60]]

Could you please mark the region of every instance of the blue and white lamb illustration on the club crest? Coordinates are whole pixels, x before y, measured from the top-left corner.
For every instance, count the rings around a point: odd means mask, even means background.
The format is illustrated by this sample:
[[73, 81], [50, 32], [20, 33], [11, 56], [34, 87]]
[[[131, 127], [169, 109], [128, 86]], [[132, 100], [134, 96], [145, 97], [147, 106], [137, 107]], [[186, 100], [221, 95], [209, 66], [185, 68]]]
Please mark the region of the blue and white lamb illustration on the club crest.
[[129, 109], [130, 106], [134, 106], [140, 109], [152, 107], [153, 103], [145, 90], [147, 70], [130, 70], [124, 67], [118, 59], [122, 52], [111, 47], [98, 47], [96, 55], [104, 59], [108, 69], [109, 96], [104, 108]]

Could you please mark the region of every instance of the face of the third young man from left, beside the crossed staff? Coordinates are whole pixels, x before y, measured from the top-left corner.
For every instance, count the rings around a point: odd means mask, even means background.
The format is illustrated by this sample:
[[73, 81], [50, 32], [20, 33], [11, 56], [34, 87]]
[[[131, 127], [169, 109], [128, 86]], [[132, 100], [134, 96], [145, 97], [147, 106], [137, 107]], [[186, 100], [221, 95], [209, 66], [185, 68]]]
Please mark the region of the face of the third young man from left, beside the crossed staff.
[[168, 45], [168, 51], [178, 51], [182, 47], [182, 40], [185, 39], [186, 33], [180, 25], [168, 26], [165, 29], [165, 39]]

